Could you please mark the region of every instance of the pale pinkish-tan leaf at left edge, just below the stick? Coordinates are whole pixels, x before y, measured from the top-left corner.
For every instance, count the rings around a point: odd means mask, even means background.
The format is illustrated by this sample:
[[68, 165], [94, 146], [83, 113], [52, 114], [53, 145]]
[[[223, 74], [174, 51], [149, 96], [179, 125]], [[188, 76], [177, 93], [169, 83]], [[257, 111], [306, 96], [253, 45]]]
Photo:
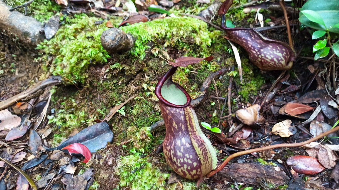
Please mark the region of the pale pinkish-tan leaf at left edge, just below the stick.
[[14, 127], [19, 126], [21, 118], [12, 114], [7, 109], [0, 111], [0, 130], [11, 130]]

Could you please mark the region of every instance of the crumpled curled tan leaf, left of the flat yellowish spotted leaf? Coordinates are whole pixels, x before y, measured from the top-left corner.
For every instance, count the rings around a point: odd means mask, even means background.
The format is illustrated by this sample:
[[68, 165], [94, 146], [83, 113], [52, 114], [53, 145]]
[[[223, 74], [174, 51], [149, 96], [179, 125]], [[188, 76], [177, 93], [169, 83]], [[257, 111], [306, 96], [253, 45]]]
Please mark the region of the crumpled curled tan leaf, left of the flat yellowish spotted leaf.
[[259, 115], [260, 105], [254, 104], [246, 109], [236, 111], [235, 115], [245, 125], [263, 124], [265, 118]]

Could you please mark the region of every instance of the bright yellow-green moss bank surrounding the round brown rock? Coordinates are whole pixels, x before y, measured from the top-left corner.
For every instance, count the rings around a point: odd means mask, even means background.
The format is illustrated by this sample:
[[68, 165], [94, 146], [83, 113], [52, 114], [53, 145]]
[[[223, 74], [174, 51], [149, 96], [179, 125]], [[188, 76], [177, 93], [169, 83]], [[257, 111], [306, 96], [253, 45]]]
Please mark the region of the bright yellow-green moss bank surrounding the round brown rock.
[[[68, 81], [84, 82], [89, 65], [107, 62], [110, 55], [101, 46], [100, 35], [108, 28], [104, 24], [94, 23], [99, 20], [84, 14], [75, 15], [73, 18], [65, 17], [66, 24], [58, 30], [55, 37], [38, 45], [37, 49], [42, 50], [44, 60], [48, 60], [50, 56], [53, 58], [49, 68], [51, 73], [64, 76]], [[120, 21], [111, 20], [114, 25]], [[209, 31], [206, 23], [191, 17], [169, 17], [121, 29], [132, 34], [136, 42], [129, 52], [115, 59], [129, 59], [132, 65], [115, 63], [111, 65], [111, 69], [126, 72], [133, 70], [133, 64], [136, 64], [137, 60], [143, 60], [145, 51], [149, 49], [149, 42], [161, 49], [171, 47], [180, 50], [183, 55], [199, 57], [210, 56], [222, 50], [224, 47], [217, 43], [225, 42], [220, 31]], [[215, 66], [211, 68], [215, 69]]]

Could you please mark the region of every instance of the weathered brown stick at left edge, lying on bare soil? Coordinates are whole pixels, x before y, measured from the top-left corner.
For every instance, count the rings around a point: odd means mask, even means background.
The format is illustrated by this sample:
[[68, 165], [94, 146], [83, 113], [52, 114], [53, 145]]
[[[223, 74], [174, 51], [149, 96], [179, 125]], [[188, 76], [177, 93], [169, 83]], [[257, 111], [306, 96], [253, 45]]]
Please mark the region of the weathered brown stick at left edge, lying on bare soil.
[[42, 91], [43, 89], [45, 89], [46, 87], [49, 87], [49, 86], [58, 85], [58, 84], [60, 84], [61, 81], [62, 81], [61, 76], [52, 76], [50, 78], [42, 80], [42, 81], [38, 82], [32, 88], [29, 88], [29, 89], [21, 92], [20, 94], [17, 94], [15, 96], [11, 97], [11, 98], [8, 98], [8, 99], [0, 102], [0, 111], [4, 110], [4, 109], [8, 108], [9, 106], [16, 104], [20, 101], [27, 101], [27, 100], [30, 100], [32, 98], [35, 98], [37, 96], [36, 93], [38, 93], [39, 91]]

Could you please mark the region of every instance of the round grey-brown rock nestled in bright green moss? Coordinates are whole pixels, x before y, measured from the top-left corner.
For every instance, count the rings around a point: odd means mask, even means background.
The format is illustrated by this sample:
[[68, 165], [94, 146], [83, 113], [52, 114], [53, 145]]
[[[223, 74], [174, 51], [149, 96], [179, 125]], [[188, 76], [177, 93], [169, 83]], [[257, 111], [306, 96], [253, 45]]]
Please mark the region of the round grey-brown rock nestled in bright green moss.
[[123, 52], [134, 46], [135, 39], [119, 28], [110, 28], [102, 32], [101, 45], [108, 53]]

